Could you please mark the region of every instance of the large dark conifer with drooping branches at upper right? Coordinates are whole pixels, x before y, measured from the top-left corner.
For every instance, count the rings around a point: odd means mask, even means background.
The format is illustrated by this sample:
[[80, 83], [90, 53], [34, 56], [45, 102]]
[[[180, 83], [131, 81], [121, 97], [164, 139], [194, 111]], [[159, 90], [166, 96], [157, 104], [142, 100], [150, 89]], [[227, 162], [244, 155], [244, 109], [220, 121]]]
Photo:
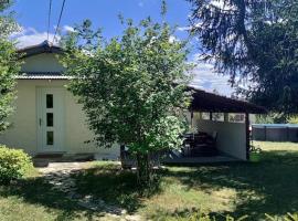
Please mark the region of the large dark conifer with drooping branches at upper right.
[[298, 2], [190, 1], [192, 33], [201, 41], [203, 59], [230, 75], [240, 95], [273, 112], [297, 113]]

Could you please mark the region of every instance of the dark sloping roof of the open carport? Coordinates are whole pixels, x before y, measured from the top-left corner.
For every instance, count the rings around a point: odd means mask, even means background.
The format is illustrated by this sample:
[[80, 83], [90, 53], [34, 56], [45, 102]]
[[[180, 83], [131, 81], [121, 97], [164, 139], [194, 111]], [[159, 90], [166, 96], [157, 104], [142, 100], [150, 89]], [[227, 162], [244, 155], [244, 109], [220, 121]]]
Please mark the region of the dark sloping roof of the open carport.
[[225, 97], [194, 87], [189, 88], [193, 91], [193, 101], [190, 107], [192, 110], [212, 113], [267, 113], [265, 107], [248, 102]]

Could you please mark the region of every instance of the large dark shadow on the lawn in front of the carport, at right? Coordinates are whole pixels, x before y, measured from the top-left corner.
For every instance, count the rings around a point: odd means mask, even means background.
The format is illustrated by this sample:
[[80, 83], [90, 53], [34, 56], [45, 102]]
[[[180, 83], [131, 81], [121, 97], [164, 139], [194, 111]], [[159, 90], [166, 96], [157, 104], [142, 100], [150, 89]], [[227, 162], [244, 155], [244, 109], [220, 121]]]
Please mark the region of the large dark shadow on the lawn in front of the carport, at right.
[[[174, 177], [189, 189], [235, 189], [236, 208], [231, 213], [235, 218], [248, 214], [249, 220], [259, 220], [265, 218], [265, 213], [285, 215], [298, 212], [297, 152], [267, 151], [262, 154], [258, 162], [169, 169], [164, 176]], [[188, 212], [182, 211], [184, 214]]]

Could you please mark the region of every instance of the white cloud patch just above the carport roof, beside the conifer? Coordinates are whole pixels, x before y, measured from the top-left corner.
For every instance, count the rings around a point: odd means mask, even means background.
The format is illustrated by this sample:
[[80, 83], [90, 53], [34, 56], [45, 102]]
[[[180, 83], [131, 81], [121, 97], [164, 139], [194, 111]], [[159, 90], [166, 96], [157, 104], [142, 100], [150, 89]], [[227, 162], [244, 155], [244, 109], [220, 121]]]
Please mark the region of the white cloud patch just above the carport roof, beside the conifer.
[[199, 61], [200, 54], [193, 56], [196, 66], [190, 71], [193, 76], [191, 86], [202, 88], [207, 92], [216, 90], [220, 94], [231, 96], [234, 90], [228, 85], [228, 76], [221, 75], [214, 71], [212, 63]]

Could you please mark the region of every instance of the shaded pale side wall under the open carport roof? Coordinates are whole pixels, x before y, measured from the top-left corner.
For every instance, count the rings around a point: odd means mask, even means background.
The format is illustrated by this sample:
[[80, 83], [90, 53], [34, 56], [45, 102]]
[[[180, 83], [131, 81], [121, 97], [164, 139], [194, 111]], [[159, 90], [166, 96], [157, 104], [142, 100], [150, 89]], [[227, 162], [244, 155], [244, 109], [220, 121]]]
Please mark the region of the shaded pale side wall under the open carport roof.
[[246, 130], [243, 123], [195, 119], [198, 130], [217, 131], [216, 147], [220, 151], [246, 160]]

